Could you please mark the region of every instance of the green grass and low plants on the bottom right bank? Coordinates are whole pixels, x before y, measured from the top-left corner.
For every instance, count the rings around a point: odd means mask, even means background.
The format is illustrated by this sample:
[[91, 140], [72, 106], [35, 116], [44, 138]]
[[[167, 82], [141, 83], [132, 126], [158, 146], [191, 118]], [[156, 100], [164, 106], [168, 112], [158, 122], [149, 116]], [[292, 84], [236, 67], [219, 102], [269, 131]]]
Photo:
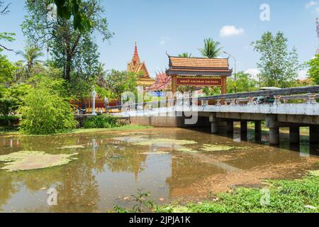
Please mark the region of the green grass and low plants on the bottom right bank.
[[268, 181], [269, 205], [262, 205], [260, 189], [237, 188], [217, 194], [214, 201], [159, 206], [157, 212], [176, 213], [318, 213], [319, 177]]

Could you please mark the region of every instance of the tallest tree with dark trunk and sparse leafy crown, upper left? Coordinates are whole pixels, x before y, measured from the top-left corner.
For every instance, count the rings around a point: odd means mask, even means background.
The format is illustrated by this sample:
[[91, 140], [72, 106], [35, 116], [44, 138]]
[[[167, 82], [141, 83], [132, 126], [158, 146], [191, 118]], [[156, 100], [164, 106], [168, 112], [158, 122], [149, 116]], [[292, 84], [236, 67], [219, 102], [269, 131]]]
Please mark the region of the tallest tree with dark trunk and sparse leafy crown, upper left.
[[[85, 20], [90, 21], [90, 26], [88, 26], [90, 29], [84, 31], [74, 29], [69, 14], [69, 7], [72, 5], [67, 4], [71, 1], [59, 2], [62, 4], [57, 4], [58, 13], [62, 6], [65, 10], [62, 9], [61, 12], [65, 14], [63, 17], [55, 18], [48, 16], [52, 0], [26, 0], [28, 16], [26, 16], [22, 28], [29, 43], [40, 48], [49, 48], [57, 67], [63, 69], [63, 78], [67, 82], [71, 82], [72, 72], [79, 72], [75, 75], [78, 77], [87, 68], [84, 75], [87, 77], [88, 74], [91, 74], [92, 69], [99, 64], [94, 34], [101, 34], [103, 40], [108, 40], [113, 34], [108, 31], [108, 22], [103, 16], [104, 9], [100, 0], [77, 1], [80, 2], [76, 5], [77, 11], [85, 15]], [[72, 1], [73, 3], [74, 1]], [[92, 62], [94, 62], [93, 65]]]

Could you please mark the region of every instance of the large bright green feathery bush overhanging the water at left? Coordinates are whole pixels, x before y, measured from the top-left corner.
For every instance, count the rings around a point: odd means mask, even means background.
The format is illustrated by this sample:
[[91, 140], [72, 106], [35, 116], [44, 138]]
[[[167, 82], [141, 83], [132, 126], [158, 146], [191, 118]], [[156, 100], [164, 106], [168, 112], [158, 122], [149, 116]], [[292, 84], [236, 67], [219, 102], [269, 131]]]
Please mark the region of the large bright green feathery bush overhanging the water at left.
[[25, 96], [21, 108], [21, 131], [47, 135], [62, 133], [77, 126], [62, 79], [40, 78]]

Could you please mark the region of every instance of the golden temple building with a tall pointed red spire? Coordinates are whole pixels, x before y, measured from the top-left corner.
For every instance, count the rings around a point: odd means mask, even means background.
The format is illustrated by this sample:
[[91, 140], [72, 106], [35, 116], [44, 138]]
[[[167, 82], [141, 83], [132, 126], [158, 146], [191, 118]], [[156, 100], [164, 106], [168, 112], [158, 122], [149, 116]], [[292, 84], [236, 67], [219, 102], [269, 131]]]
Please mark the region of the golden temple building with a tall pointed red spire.
[[147, 89], [155, 83], [155, 80], [150, 77], [145, 62], [140, 61], [138, 55], [138, 46], [135, 43], [135, 51], [132, 62], [128, 63], [128, 72], [138, 74], [138, 85]]

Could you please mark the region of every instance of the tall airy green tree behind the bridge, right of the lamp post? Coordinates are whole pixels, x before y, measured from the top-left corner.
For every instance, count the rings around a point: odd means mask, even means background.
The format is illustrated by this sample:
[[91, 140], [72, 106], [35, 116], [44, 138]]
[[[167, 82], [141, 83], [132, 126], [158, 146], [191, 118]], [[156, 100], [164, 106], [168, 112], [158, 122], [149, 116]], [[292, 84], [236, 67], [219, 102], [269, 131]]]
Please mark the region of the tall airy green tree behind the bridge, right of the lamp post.
[[257, 67], [261, 70], [262, 85], [293, 86], [301, 65], [298, 62], [296, 48], [289, 52], [288, 39], [284, 37], [284, 33], [273, 35], [268, 31], [260, 40], [252, 42], [252, 47], [261, 54]]

